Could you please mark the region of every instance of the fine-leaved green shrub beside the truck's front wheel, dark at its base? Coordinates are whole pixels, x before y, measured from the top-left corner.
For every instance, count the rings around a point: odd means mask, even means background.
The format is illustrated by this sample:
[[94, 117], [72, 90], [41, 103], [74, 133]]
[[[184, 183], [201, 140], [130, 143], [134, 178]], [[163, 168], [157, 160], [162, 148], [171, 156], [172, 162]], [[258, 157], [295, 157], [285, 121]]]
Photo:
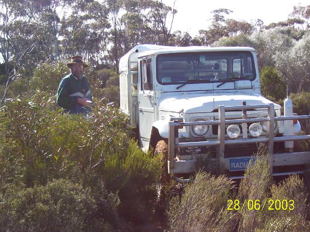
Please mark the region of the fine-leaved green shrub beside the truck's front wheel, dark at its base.
[[133, 140], [105, 161], [102, 176], [107, 188], [119, 194], [120, 214], [136, 223], [151, 219], [160, 167], [159, 157], [144, 153]]

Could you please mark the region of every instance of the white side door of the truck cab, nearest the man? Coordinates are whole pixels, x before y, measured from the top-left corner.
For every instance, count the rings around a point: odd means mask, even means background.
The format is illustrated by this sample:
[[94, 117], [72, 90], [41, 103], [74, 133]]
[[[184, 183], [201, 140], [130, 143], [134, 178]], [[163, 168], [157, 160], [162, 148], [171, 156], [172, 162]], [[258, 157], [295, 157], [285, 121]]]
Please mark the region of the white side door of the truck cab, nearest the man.
[[148, 149], [152, 125], [155, 121], [154, 111], [154, 86], [152, 79], [152, 65], [150, 58], [140, 61], [140, 80], [139, 80], [139, 132], [140, 145]]

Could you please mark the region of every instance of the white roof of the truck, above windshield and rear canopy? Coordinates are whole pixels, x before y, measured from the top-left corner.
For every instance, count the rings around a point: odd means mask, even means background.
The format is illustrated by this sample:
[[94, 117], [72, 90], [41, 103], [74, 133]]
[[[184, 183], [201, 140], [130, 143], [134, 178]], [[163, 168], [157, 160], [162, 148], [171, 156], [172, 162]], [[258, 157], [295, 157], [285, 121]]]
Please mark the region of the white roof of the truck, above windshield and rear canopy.
[[[256, 51], [251, 47], [207, 47], [207, 46], [188, 46], [173, 47], [153, 44], [141, 44], [132, 48], [121, 59], [119, 64], [119, 72], [127, 72], [128, 62], [137, 62], [138, 57], [145, 57], [153, 54], [167, 54], [180, 52], [220, 52], [220, 51]], [[130, 60], [128, 60], [130, 58]]]

